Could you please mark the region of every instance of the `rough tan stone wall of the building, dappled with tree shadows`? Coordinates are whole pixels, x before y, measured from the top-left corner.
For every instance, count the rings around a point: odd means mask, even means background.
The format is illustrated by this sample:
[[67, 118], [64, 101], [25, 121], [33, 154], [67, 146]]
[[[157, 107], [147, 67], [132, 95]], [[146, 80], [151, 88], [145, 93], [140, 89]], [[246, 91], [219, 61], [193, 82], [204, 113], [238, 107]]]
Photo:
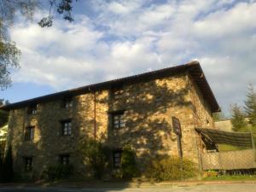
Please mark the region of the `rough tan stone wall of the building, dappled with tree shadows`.
[[[119, 98], [114, 98], [112, 90], [74, 96], [70, 109], [62, 108], [60, 100], [38, 103], [38, 113], [34, 115], [26, 114], [26, 108], [13, 110], [9, 118], [9, 142], [13, 145], [15, 172], [23, 174], [22, 158], [32, 156], [33, 174], [38, 177], [46, 166], [58, 163], [59, 154], [68, 153], [75, 171], [88, 176], [77, 152], [79, 140], [93, 138], [95, 129], [96, 139], [110, 148], [131, 145], [144, 170], [156, 155], [177, 156], [172, 116], [181, 122], [183, 156], [199, 162], [195, 127], [212, 126], [212, 116], [187, 73], [124, 84], [119, 92]], [[111, 113], [118, 110], [124, 111], [125, 128], [115, 130]], [[61, 136], [60, 120], [63, 119], [72, 119], [71, 136]], [[35, 126], [35, 138], [25, 142], [24, 129], [29, 125]]]

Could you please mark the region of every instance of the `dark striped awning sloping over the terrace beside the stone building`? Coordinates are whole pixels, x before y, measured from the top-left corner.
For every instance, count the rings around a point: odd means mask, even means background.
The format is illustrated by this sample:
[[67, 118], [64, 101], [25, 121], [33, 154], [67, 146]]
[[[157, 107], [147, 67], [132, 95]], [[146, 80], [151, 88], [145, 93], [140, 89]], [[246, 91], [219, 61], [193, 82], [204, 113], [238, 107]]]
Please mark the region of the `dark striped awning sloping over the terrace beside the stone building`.
[[253, 148], [252, 134], [249, 132], [228, 132], [208, 128], [195, 128], [195, 131], [215, 144]]

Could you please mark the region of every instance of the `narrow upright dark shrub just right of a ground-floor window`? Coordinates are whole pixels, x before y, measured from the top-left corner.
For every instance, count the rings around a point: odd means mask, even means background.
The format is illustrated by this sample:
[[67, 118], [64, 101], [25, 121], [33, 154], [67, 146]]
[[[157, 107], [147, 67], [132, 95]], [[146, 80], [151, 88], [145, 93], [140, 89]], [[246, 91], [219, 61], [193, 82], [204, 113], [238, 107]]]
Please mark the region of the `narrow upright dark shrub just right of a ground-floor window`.
[[139, 171], [137, 169], [136, 154], [130, 146], [123, 148], [121, 157], [121, 173], [122, 177], [131, 178], [137, 177]]

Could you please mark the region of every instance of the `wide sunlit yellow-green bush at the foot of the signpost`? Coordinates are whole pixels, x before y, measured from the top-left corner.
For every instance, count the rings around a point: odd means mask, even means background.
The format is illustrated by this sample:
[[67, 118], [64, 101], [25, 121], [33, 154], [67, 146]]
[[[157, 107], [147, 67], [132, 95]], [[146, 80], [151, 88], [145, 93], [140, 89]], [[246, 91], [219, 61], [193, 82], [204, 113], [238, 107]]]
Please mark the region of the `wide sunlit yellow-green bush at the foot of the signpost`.
[[153, 160], [148, 168], [147, 176], [158, 181], [180, 180], [195, 177], [195, 164], [191, 160], [177, 157], [166, 157], [161, 160]]

